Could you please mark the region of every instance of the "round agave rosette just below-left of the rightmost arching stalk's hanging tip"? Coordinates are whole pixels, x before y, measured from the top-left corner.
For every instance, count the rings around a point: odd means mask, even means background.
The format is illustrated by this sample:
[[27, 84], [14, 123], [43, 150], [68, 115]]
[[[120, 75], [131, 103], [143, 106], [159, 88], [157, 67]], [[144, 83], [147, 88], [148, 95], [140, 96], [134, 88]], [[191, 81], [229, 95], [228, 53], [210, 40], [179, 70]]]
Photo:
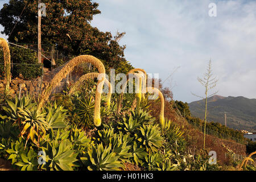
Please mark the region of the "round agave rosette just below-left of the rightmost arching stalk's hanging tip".
[[141, 146], [145, 146], [147, 152], [158, 151], [158, 148], [162, 146], [163, 142], [158, 125], [143, 125], [138, 130], [135, 137]]

